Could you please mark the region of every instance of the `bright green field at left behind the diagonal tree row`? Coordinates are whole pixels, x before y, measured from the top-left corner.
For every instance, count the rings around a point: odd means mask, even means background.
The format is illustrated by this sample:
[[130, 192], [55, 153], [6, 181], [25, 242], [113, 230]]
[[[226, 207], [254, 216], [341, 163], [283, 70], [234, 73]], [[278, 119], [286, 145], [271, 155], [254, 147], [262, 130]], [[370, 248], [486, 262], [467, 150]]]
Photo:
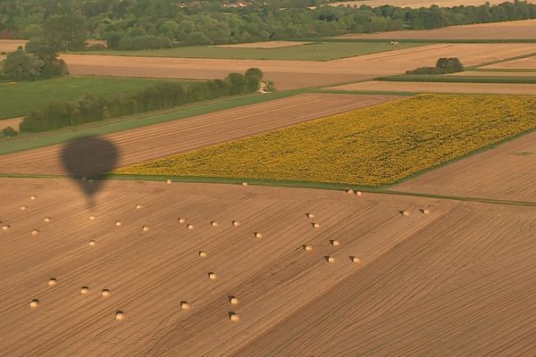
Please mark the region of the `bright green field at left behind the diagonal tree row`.
[[[173, 80], [173, 79], [170, 79]], [[75, 100], [82, 95], [107, 97], [118, 93], [133, 93], [154, 86], [166, 79], [121, 77], [63, 77], [33, 82], [0, 82], [0, 119], [27, 115], [55, 100]], [[185, 81], [185, 83], [194, 82]]]

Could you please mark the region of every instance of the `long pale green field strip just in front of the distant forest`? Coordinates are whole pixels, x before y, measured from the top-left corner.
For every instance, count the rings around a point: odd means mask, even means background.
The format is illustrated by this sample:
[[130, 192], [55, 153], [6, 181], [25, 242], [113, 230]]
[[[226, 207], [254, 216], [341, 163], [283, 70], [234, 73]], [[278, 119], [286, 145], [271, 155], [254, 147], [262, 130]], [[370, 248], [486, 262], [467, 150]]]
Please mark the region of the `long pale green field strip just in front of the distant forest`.
[[113, 54], [124, 56], [150, 57], [186, 57], [186, 58], [230, 58], [248, 60], [291, 60], [291, 61], [329, 61], [338, 58], [352, 57], [362, 54], [422, 46], [422, 43], [406, 43], [393, 46], [389, 41], [344, 43], [316, 42], [303, 46], [288, 46], [280, 48], [237, 48], [219, 46], [190, 46], [164, 48], [159, 50], [141, 51], [96, 51], [83, 54]]

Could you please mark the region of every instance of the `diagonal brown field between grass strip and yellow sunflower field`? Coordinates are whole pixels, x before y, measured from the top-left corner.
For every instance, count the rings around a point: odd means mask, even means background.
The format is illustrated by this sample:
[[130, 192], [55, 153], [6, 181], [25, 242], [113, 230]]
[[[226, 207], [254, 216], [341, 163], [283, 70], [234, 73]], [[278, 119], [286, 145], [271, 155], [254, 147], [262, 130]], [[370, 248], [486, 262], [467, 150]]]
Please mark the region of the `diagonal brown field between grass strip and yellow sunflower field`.
[[[333, 113], [380, 104], [391, 95], [306, 94], [251, 104], [221, 112], [130, 129], [105, 136], [117, 145], [121, 166], [203, 146], [281, 129]], [[59, 162], [63, 145], [52, 145], [0, 156], [1, 173], [63, 173]], [[96, 160], [99, 155], [96, 153]]]

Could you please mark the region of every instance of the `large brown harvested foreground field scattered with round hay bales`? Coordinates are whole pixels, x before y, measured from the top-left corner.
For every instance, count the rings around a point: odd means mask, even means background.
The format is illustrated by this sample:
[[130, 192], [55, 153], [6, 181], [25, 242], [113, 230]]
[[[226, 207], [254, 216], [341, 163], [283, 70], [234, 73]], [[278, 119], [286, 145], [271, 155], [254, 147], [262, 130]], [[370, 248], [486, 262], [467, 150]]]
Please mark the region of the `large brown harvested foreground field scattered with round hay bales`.
[[[530, 207], [107, 181], [89, 211], [66, 179], [0, 179], [0, 191], [10, 225], [0, 230], [4, 356], [536, 351]], [[306, 212], [322, 228], [311, 229]]]

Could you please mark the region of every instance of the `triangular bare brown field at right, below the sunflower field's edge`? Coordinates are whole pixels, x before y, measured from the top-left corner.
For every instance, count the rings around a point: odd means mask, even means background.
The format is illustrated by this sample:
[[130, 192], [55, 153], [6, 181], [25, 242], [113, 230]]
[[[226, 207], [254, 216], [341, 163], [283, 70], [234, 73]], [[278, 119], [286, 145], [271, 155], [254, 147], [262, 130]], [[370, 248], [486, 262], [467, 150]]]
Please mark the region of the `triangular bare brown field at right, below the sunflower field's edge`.
[[432, 170], [393, 189], [536, 203], [536, 132]]

